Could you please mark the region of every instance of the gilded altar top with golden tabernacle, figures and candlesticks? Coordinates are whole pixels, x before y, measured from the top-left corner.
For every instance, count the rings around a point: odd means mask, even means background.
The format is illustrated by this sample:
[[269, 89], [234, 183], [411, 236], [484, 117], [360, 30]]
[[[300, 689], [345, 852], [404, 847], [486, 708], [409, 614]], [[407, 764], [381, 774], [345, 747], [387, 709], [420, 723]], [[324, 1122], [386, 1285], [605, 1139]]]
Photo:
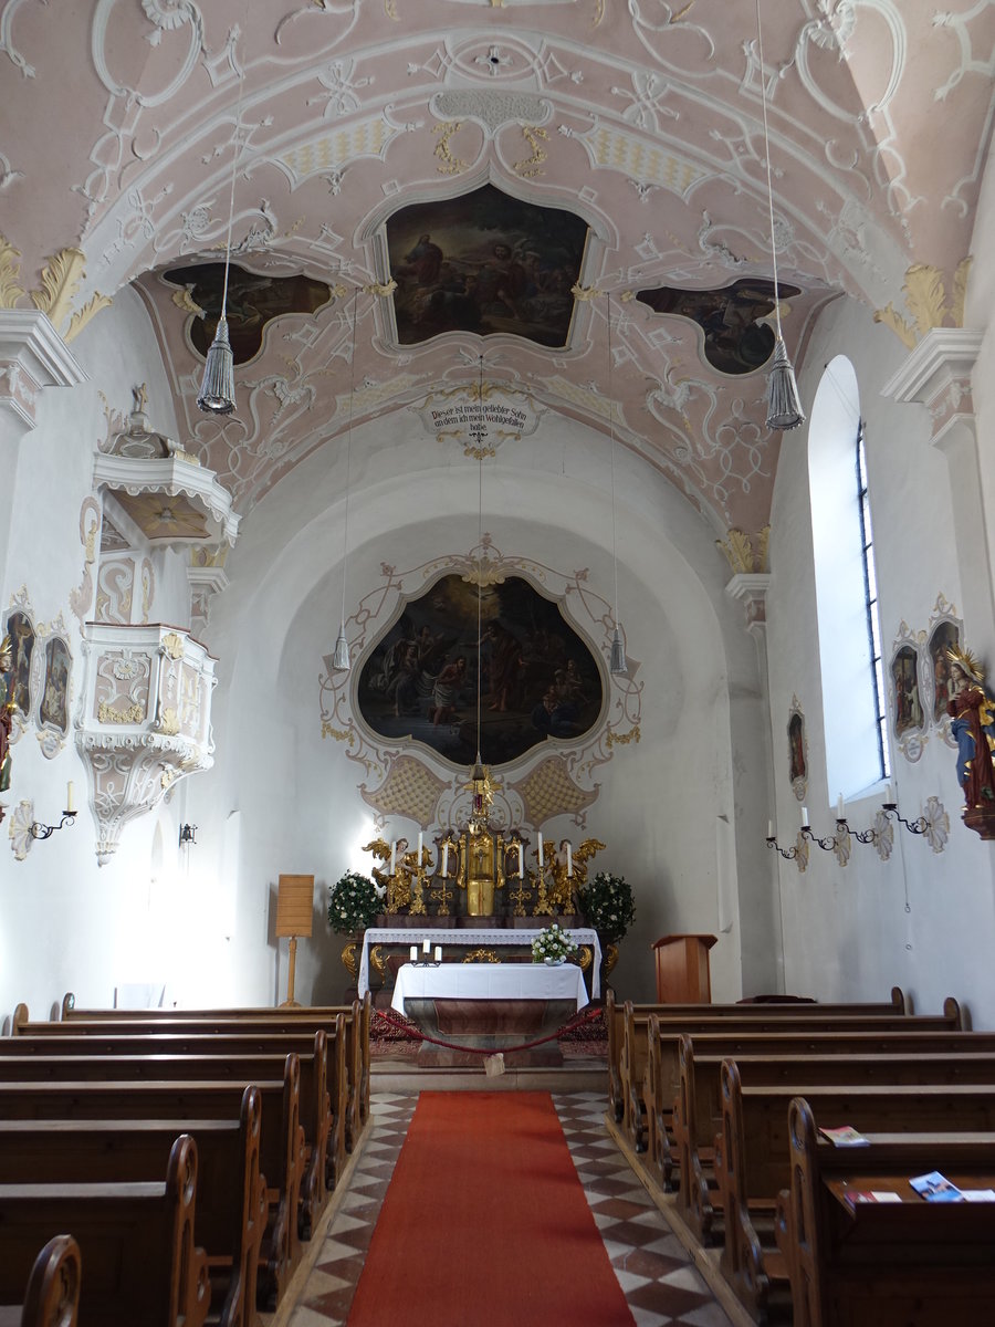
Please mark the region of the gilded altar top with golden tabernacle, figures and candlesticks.
[[425, 925], [432, 917], [459, 925], [459, 918], [467, 917], [472, 925], [492, 918], [490, 925], [515, 926], [519, 917], [577, 913], [577, 890], [586, 884], [588, 863], [605, 844], [585, 839], [574, 852], [566, 840], [557, 847], [539, 833], [529, 853], [535, 867], [527, 867], [521, 832], [490, 823], [495, 784], [479, 760], [466, 791], [471, 794], [470, 817], [435, 840], [434, 859], [421, 831], [415, 849], [406, 839], [390, 844], [381, 837], [365, 845], [364, 851], [382, 863], [371, 874], [385, 892], [387, 917], [401, 925], [409, 917], [410, 925]]

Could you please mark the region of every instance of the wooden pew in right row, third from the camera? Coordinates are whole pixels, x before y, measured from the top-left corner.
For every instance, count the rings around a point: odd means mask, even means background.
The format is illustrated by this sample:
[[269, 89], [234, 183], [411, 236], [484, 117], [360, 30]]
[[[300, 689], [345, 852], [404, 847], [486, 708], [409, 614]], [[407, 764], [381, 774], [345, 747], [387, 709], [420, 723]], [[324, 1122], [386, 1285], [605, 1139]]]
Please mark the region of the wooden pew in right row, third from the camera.
[[[903, 1084], [995, 1083], [995, 1052], [961, 1054], [957, 1039], [945, 1052], [907, 1051], [896, 1038], [876, 1054], [792, 1054], [779, 1047], [769, 1055], [735, 1055], [743, 1087], [780, 1087], [789, 1083]], [[722, 1125], [719, 1075], [722, 1054], [698, 1055], [696, 1039], [681, 1039], [681, 1092], [674, 1108], [674, 1137], [681, 1166], [678, 1206], [702, 1243], [711, 1241], [722, 1197], [712, 1174], [712, 1143]], [[687, 1182], [685, 1182], [687, 1177]]]

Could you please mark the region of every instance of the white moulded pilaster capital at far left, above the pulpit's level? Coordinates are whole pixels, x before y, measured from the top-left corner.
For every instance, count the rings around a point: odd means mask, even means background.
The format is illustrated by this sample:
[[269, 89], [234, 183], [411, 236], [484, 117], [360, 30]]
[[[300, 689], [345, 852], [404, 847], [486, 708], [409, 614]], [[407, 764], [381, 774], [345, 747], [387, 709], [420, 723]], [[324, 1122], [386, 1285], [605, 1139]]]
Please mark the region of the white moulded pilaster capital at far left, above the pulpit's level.
[[86, 381], [80, 362], [40, 309], [0, 309], [0, 410], [31, 433], [42, 387]]

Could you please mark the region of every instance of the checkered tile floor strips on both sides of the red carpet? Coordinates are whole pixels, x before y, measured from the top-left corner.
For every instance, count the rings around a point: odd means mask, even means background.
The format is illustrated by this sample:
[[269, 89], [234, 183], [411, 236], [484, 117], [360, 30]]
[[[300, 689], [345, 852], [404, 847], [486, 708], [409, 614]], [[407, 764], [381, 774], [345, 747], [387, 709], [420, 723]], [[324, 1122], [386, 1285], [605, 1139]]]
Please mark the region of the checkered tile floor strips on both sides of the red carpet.
[[[637, 1327], [728, 1327], [683, 1246], [605, 1133], [604, 1093], [553, 1093], [553, 1103]], [[415, 1096], [374, 1093], [370, 1136], [289, 1327], [344, 1327], [348, 1320], [415, 1104]]]

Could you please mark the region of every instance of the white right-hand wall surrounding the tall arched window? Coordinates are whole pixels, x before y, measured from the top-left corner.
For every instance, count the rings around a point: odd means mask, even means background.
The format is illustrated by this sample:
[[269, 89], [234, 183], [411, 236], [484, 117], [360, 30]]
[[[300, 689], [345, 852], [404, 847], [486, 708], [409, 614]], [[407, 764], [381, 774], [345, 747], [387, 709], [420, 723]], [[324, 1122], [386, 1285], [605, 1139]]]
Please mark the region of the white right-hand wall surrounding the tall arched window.
[[[816, 328], [801, 376], [811, 402], [823, 366], [837, 350], [850, 358], [866, 421], [868, 472], [881, 604], [886, 677], [901, 624], [925, 632], [941, 594], [961, 605], [961, 568], [953, 539], [950, 478], [945, 456], [930, 443], [923, 407], [898, 406], [881, 395], [902, 362], [897, 338], [849, 301], [832, 305]], [[800, 824], [800, 803], [788, 783], [787, 722], [797, 695], [807, 719], [809, 783], [805, 804], [819, 835], [834, 832], [837, 788], [827, 782], [823, 683], [812, 569], [807, 430], [785, 434], [777, 470], [771, 537], [768, 649], [771, 734], [779, 841], [789, 847]], [[967, 628], [970, 633], [970, 626]], [[970, 641], [968, 641], [970, 644]], [[890, 691], [890, 687], [889, 687]], [[889, 694], [889, 731], [892, 697]], [[930, 796], [950, 815], [942, 852], [894, 827], [894, 851], [881, 861], [872, 845], [853, 843], [848, 865], [811, 845], [808, 869], [777, 860], [784, 914], [785, 983], [820, 999], [882, 998], [901, 985], [921, 1011], [938, 1010], [946, 995], [966, 1003], [978, 1026], [995, 1026], [990, 953], [992, 918], [991, 845], [959, 819], [954, 751], [935, 727], [918, 760], [892, 746], [898, 808], [909, 820]], [[853, 828], [866, 829], [882, 790], [848, 802]]]

